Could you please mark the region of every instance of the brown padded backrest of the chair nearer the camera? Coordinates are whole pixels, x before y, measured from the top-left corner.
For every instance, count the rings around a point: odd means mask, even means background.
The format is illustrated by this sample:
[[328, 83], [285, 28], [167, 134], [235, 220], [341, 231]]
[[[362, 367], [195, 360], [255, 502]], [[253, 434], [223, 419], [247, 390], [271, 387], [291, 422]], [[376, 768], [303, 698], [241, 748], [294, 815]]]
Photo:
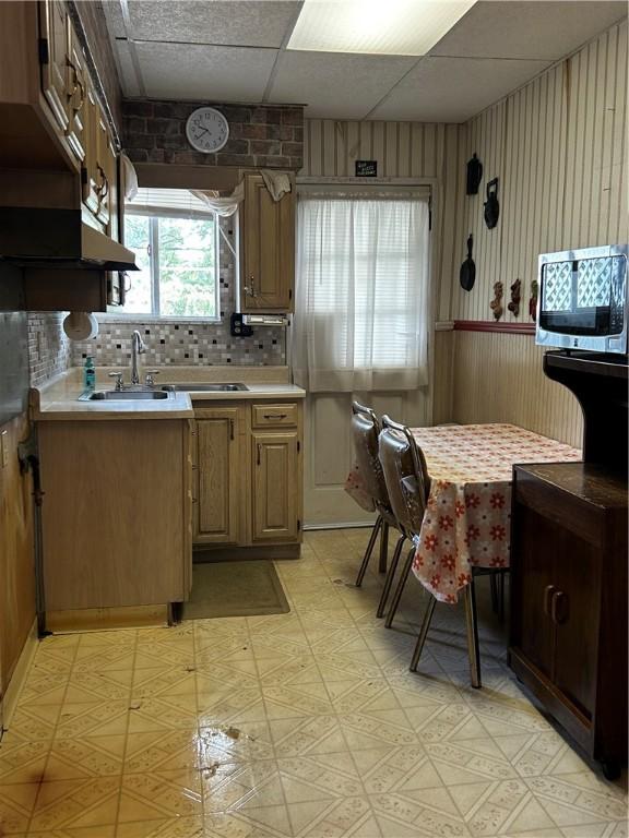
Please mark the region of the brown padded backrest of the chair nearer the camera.
[[418, 535], [430, 491], [424, 452], [410, 429], [388, 416], [382, 417], [379, 443], [379, 457], [393, 515], [406, 535]]

